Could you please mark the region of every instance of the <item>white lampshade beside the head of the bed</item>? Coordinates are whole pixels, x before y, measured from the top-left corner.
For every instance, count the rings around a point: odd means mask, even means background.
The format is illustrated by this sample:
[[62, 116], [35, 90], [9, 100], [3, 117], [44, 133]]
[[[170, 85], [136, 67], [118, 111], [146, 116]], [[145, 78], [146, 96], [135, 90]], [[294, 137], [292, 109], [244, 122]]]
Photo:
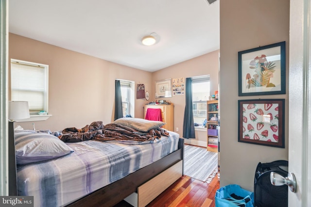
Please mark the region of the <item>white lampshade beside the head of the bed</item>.
[[9, 101], [9, 120], [28, 119], [28, 101]]

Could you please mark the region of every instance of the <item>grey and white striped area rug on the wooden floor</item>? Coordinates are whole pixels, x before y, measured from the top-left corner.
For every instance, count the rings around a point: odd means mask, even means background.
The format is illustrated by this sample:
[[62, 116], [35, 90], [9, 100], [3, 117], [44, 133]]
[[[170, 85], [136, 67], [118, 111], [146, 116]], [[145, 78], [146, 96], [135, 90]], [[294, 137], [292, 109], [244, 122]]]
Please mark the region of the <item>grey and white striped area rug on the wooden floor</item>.
[[185, 144], [184, 174], [209, 183], [218, 171], [217, 152]]

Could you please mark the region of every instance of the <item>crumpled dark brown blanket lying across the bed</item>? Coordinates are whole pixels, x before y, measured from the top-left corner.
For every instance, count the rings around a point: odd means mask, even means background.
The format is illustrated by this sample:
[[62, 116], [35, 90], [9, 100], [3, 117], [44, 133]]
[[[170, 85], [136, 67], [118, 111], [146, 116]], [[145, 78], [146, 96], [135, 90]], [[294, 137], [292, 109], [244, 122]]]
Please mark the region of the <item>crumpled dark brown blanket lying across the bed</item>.
[[63, 142], [82, 142], [86, 140], [98, 141], [154, 141], [161, 139], [161, 135], [169, 136], [163, 128], [151, 129], [148, 132], [141, 132], [131, 127], [119, 124], [103, 125], [102, 121], [92, 122], [90, 125], [78, 129], [76, 127], [65, 128], [60, 139]]

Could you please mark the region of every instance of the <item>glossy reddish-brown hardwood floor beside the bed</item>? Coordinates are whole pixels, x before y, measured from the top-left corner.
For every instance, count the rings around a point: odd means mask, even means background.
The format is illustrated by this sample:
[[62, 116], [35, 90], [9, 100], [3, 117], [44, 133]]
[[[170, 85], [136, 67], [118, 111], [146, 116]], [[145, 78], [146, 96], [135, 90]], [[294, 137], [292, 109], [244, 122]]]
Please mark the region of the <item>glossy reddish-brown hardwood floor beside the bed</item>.
[[[217, 175], [210, 183], [184, 175], [157, 196], [147, 207], [215, 207], [217, 189], [219, 189]], [[122, 201], [115, 207], [132, 206]]]

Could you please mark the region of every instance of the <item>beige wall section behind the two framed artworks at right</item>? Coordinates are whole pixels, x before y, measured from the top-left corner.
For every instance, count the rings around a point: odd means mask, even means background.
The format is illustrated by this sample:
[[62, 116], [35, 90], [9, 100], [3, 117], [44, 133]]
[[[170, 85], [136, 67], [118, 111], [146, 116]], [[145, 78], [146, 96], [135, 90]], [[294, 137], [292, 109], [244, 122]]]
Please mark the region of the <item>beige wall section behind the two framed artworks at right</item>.
[[[220, 184], [253, 191], [258, 162], [288, 160], [290, 0], [220, 1]], [[286, 41], [286, 95], [238, 96], [238, 51]], [[238, 100], [285, 98], [285, 148], [238, 143]]]

